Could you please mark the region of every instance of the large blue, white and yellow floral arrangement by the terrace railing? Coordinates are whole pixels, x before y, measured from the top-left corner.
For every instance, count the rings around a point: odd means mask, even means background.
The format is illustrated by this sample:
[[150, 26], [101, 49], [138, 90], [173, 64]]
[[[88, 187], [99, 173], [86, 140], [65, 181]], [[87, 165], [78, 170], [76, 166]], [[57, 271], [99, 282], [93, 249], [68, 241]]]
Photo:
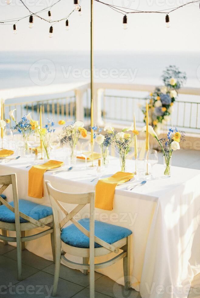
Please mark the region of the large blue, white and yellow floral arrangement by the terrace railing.
[[[163, 71], [162, 81], [164, 86], [156, 87], [155, 91], [146, 98], [148, 100], [149, 123], [159, 135], [161, 127], [170, 122], [173, 105], [178, 96], [178, 90], [186, 82], [185, 72], [179, 71], [175, 65], [170, 65]], [[146, 123], [146, 107], [141, 108]]]

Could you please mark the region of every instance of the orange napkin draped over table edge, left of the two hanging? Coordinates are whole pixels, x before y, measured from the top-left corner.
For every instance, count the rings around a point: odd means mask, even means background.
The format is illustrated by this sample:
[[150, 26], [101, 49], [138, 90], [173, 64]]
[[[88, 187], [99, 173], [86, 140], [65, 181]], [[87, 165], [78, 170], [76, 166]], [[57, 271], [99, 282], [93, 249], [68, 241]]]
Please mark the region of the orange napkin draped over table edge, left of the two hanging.
[[63, 165], [62, 161], [49, 160], [43, 165], [34, 165], [29, 170], [29, 190], [28, 195], [33, 198], [43, 197], [43, 177], [46, 170], [58, 168]]

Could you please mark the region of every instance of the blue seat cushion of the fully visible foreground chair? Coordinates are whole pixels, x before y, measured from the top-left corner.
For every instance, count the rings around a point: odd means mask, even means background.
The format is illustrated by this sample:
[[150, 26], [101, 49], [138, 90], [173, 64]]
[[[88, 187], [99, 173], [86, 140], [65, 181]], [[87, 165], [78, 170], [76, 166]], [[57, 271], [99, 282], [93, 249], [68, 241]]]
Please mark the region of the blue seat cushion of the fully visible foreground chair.
[[[90, 230], [90, 219], [85, 218], [78, 221], [86, 230]], [[106, 241], [109, 244], [113, 244], [120, 239], [123, 239], [132, 234], [132, 231], [115, 226], [113, 224], [103, 223], [101, 221], [95, 220], [94, 228], [95, 236], [99, 237], [103, 241]], [[89, 248], [90, 239], [85, 234], [83, 234], [74, 224], [64, 228], [61, 232], [61, 239], [64, 243], [78, 247], [78, 248]], [[102, 247], [98, 243], [94, 243], [94, 247]]]

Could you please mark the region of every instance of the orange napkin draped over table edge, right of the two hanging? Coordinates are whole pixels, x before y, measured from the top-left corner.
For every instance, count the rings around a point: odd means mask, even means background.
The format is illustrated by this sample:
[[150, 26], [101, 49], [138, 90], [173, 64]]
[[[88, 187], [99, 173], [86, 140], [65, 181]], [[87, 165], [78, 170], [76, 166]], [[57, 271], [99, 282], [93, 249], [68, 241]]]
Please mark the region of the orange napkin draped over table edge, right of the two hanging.
[[133, 173], [117, 172], [111, 177], [99, 180], [95, 189], [95, 207], [113, 210], [113, 199], [117, 184], [127, 182], [133, 176]]

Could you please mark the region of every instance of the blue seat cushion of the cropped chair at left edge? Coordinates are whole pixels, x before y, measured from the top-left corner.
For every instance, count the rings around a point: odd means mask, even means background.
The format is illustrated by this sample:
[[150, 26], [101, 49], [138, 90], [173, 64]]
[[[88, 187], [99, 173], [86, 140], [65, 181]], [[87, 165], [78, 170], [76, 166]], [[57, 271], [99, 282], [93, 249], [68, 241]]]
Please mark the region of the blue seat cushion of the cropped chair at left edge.
[[[10, 202], [9, 204], [14, 207], [14, 202]], [[27, 200], [19, 200], [19, 211], [36, 220], [53, 214], [51, 207], [36, 204]], [[28, 222], [22, 217], [19, 219], [21, 224]], [[5, 223], [15, 223], [15, 213], [10, 211], [5, 205], [0, 206], [0, 221], [4, 221]]]

